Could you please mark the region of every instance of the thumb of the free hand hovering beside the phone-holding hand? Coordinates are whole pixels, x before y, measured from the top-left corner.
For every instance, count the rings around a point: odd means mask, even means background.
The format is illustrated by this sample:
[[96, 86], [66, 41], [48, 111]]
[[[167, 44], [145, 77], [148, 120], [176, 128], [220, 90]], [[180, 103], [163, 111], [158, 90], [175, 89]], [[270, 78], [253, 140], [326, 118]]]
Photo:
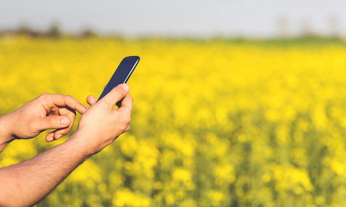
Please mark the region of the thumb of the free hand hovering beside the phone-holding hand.
[[46, 129], [60, 129], [65, 128], [71, 124], [71, 119], [67, 116], [47, 116], [39, 117], [35, 121], [36, 129], [43, 131]]

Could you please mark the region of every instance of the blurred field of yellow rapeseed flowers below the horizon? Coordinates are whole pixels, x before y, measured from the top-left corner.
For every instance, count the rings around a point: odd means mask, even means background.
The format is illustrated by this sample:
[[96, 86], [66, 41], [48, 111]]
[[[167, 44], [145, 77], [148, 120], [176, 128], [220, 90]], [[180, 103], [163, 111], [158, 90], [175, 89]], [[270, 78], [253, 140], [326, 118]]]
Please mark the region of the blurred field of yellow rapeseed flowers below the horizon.
[[[129, 55], [130, 130], [37, 206], [346, 206], [340, 42], [0, 38], [0, 115], [44, 92], [87, 105]], [[0, 167], [68, 138], [46, 134]]]

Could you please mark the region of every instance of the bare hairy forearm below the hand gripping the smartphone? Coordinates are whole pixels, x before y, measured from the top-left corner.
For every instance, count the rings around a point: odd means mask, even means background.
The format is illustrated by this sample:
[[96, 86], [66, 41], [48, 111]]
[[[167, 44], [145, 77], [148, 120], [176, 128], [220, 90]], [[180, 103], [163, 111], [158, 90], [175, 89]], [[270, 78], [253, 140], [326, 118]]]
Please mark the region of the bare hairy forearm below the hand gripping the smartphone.
[[34, 205], [90, 157], [81, 139], [75, 139], [78, 134], [73, 136], [32, 159], [0, 169], [0, 206]]

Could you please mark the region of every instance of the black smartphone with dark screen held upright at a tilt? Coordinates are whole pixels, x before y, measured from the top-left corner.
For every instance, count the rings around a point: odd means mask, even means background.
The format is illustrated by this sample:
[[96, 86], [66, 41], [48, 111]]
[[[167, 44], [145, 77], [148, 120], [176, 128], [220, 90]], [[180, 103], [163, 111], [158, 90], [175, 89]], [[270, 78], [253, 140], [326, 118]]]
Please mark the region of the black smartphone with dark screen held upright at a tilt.
[[[115, 70], [113, 76], [107, 83], [106, 88], [103, 89], [98, 101], [106, 96], [107, 93], [109, 93], [114, 87], [118, 86], [121, 83], [126, 83], [135, 70], [138, 62], [138, 56], [128, 56], [122, 59], [118, 68]], [[121, 100], [117, 102], [117, 106], [120, 106], [120, 102]]]

